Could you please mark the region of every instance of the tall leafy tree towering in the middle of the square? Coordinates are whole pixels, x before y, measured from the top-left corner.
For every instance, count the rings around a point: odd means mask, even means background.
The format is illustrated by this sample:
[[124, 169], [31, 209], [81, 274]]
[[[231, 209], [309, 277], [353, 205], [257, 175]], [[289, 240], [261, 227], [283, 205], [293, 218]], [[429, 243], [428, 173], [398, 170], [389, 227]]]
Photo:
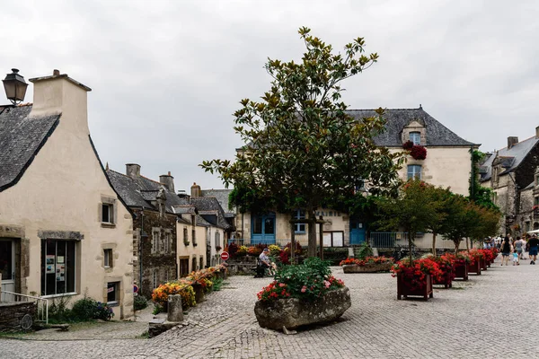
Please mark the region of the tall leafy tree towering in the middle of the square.
[[364, 54], [365, 40], [354, 39], [343, 54], [299, 29], [306, 52], [301, 61], [268, 60], [271, 87], [261, 101], [242, 100], [234, 113], [234, 131], [244, 142], [234, 162], [204, 161], [225, 187], [234, 186], [231, 202], [243, 211], [305, 209], [308, 255], [316, 253], [315, 210], [353, 197], [369, 181], [370, 192], [395, 194], [402, 153], [378, 148], [373, 136], [384, 130], [384, 111], [361, 121], [340, 101], [340, 83], [363, 72], [378, 56]]

